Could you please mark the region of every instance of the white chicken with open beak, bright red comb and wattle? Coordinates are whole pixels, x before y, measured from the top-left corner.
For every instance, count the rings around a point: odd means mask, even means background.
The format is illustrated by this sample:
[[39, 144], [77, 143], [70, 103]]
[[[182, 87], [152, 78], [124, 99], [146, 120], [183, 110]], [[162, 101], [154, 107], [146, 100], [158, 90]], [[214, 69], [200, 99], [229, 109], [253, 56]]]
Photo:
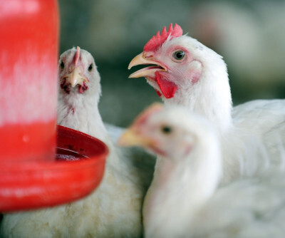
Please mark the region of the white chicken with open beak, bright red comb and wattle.
[[[279, 166], [282, 156], [271, 158], [263, 148], [278, 135], [267, 133], [284, 121], [285, 100], [254, 100], [232, 108], [227, 66], [216, 52], [190, 36], [182, 35], [179, 25], [164, 28], [133, 58], [129, 69], [150, 64], [130, 75], [145, 77], [167, 105], [184, 105], [212, 121], [222, 140], [224, 182], [241, 175], [254, 175], [267, 165]], [[266, 135], [264, 134], [266, 133]], [[274, 159], [274, 162], [269, 161]], [[258, 159], [257, 159], [258, 158]]]

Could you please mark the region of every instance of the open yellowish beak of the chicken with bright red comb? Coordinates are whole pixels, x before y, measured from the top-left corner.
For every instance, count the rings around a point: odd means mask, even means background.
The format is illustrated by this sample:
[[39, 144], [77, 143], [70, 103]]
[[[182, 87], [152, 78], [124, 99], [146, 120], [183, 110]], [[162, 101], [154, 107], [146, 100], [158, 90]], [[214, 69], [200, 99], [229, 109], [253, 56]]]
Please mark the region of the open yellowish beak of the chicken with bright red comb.
[[[151, 57], [153, 58], [153, 57]], [[161, 63], [157, 61], [151, 60], [151, 58], [147, 58], [144, 54], [144, 52], [140, 53], [138, 56], [135, 56], [132, 61], [130, 61], [130, 64], [128, 66], [128, 69], [132, 68], [133, 66], [138, 66], [142, 64], [149, 64], [149, 65], [155, 65], [155, 66], [148, 66], [146, 68], [142, 68], [138, 71], [135, 71], [135, 73], [132, 73], [129, 78], [140, 78], [145, 76], [155, 76], [156, 71], [167, 71], [167, 68], [165, 66], [162, 66]]]

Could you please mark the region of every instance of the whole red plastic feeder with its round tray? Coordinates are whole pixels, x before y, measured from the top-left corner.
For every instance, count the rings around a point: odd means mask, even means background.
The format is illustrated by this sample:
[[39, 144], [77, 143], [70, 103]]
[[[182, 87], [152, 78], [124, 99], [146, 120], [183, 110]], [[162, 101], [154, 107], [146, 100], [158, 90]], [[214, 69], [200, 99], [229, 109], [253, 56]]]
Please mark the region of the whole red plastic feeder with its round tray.
[[56, 0], [0, 1], [0, 35], [0, 211], [87, 195], [108, 148], [75, 130], [56, 133]]

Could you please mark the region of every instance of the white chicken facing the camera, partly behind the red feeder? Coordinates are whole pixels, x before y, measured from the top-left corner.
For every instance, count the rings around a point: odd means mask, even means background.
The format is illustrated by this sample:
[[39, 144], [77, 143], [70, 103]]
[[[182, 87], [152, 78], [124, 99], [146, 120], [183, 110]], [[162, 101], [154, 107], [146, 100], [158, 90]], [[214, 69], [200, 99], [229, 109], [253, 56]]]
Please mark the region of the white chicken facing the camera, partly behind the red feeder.
[[[97, 190], [67, 205], [4, 215], [1, 237], [140, 237], [141, 207], [152, 167], [115, 148], [98, 111], [100, 76], [93, 56], [71, 48], [58, 63], [58, 124], [105, 142], [110, 150]], [[151, 164], [151, 162], [148, 162]]]

